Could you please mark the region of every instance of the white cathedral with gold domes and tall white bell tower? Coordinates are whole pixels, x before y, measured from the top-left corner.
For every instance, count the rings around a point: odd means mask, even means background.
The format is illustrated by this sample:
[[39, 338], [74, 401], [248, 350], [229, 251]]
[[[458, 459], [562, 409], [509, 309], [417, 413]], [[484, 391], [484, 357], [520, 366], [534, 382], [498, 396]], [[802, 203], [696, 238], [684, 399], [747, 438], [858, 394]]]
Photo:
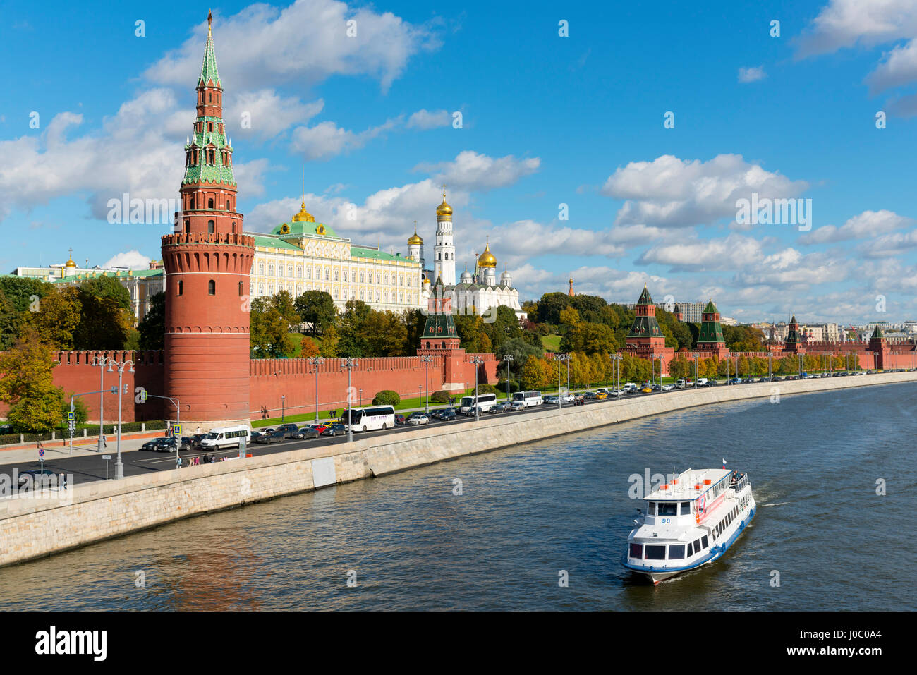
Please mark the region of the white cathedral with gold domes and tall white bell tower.
[[513, 277], [503, 270], [497, 281], [497, 259], [491, 252], [488, 241], [484, 252], [475, 260], [474, 272], [466, 267], [456, 283], [456, 247], [452, 240], [452, 207], [446, 203], [446, 189], [443, 189], [443, 203], [436, 207], [436, 244], [433, 247], [433, 269], [426, 269], [424, 260], [424, 239], [417, 234], [407, 240], [408, 258], [420, 262], [424, 270], [423, 300], [429, 298], [432, 283], [442, 282], [443, 293], [451, 295], [453, 311], [456, 314], [483, 315], [491, 307], [501, 304], [510, 307], [517, 318], [524, 319], [525, 312], [519, 304], [519, 291], [513, 287]]

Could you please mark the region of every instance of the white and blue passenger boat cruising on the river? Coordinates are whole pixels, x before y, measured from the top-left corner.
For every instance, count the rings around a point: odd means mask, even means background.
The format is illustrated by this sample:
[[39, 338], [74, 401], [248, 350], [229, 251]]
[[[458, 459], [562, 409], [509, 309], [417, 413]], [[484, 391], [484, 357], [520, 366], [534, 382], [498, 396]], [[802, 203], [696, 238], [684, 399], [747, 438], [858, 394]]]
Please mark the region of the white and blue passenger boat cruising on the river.
[[755, 517], [748, 474], [687, 470], [646, 495], [621, 564], [657, 584], [720, 558]]

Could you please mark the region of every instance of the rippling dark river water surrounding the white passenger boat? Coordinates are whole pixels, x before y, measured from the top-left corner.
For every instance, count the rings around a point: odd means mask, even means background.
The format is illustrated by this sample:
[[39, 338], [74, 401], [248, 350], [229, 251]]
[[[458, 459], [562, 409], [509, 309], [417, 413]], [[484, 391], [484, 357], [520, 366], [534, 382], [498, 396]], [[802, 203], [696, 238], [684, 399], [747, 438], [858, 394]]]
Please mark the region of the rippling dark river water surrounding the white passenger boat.
[[[894, 384], [551, 438], [6, 568], [0, 608], [913, 610], [915, 410]], [[632, 477], [723, 459], [758, 504], [724, 558], [624, 570]]]

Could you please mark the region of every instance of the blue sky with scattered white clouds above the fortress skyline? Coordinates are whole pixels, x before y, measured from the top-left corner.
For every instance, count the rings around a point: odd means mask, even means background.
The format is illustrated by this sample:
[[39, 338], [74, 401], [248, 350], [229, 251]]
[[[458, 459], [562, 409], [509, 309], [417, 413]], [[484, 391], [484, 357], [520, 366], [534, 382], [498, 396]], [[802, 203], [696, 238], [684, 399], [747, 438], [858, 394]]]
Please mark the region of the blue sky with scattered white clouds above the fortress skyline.
[[[524, 299], [572, 276], [742, 321], [917, 318], [917, 3], [635, 5], [213, 6], [246, 228], [298, 210], [304, 169], [318, 220], [404, 251], [416, 219], [429, 259], [445, 182], [459, 268], [489, 237]], [[159, 258], [167, 227], [106, 203], [177, 196], [209, 6], [4, 7], [0, 267]], [[737, 223], [753, 192], [811, 199], [811, 230]]]

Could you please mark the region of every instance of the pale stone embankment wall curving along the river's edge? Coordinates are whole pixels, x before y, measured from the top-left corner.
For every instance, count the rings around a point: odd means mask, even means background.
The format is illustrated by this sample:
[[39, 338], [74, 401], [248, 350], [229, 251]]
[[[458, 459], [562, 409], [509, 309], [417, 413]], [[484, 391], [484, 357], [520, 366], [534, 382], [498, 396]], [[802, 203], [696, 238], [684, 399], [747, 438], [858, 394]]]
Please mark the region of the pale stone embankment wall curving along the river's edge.
[[[39, 558], [109, 537], [284, 494], [528, 443], [696, 405], [848, 387], [917, 382], [917, 372], [718, 386], [619, 402], [554, 407], [480, 422], [356, 436], [352, 444], [293, 450], [121, 481], [97, 481], [49, 499], [0, 498], [0, 565]], [[712, 459], [712, 461], [718, 461]]]

